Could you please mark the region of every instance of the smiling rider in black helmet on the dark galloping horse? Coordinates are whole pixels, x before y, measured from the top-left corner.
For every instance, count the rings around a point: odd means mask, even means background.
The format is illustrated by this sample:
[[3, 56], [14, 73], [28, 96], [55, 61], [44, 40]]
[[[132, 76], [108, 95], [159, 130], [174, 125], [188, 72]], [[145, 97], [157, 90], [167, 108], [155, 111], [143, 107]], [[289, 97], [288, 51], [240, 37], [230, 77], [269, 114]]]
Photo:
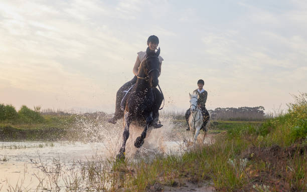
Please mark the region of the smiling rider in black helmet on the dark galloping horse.
[[[157, 47], [159, 45], [159, 38], [155, 35], [149, 36], [147, 39], [147, 46], [149, 47], [149, 51], [155, 52]], [[116, 121], [120, 118], [123, 117], [123, 110], [120, 108], [120, 103], [121, 100], [123, 99], [126, 91], [133, 85], [136, 83], [137, 80], [137, 74], [138, 74], [138, 68], [140, 66], [140, 64], [142, 63], [142, 61], [146, 58], [146, 52], [138, 52], [137, 53], [137, 57], [136, 57], [136, 61], [133, 67], [133, 74], [134, 77], [128, 81], [127, 83], [125, 83], [123, 86], [121, 86], [118, 91], [116, 92], [116, 104], [115, 104], [115, 113], [114, 113], [114, 117], [110, 118], [108, 120], [109, 123], [113, 123], [115, 124]], [[161, 56], [159, 56], [159, 61], [160, 61], [160, 69], [159, 72], [161, 73], [161, 65], [162, 65], [162, 61], [163, 58]]]

